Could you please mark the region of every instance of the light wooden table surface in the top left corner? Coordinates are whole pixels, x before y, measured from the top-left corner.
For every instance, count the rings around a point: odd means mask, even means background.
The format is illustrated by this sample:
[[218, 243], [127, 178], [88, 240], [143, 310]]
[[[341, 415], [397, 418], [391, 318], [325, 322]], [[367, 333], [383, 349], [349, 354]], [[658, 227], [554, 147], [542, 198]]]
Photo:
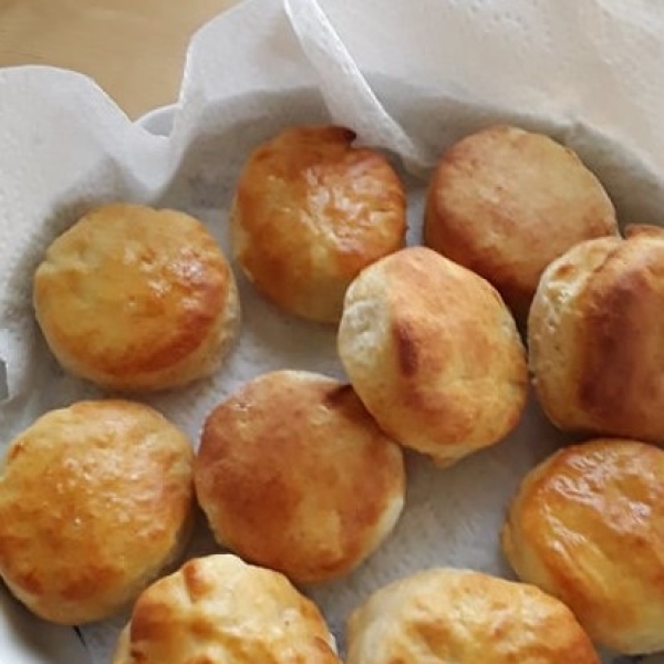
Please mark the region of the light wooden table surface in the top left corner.
[[132, 117], [175, 101], [191, 34], [238, 0], [0, 0], [0, 66], [89, 74]]

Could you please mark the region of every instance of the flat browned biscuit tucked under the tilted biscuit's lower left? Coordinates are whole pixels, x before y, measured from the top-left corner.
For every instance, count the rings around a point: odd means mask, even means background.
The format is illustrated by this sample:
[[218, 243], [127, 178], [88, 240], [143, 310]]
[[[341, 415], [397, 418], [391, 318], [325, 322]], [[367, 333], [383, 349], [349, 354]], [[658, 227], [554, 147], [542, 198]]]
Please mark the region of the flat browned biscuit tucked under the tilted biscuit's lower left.
[[300, 583], [356, 567], [404, 504], [398, 445], [349, 385], [307, 372], [264, 374], [217, 406], [194, 474], [217, 541]]

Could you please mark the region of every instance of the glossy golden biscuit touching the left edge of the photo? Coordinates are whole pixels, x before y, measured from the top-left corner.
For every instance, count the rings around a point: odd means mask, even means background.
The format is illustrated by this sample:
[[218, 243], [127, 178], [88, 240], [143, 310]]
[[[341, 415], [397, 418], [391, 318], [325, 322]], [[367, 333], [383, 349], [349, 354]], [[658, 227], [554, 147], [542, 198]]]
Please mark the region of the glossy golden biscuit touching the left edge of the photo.
[[107, 618], [179, 553], [194, 505], [186, 436], [152, 408], [80, 402], [40, 417], [0, 475], [0, 575], [37, 615]]

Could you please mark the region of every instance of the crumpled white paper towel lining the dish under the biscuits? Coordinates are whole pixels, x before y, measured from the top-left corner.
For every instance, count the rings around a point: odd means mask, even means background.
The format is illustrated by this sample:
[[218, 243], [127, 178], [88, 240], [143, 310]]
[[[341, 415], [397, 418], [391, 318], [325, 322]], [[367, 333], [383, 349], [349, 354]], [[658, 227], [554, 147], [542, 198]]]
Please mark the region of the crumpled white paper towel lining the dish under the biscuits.
[[[664, 8], [650, 0], [249, 0], [193, 40], [169, 137], [129, 122], [82, 75], [0, 71], [2, 444], [44, 411], [100, 395], [58, 367], [35, 326], [31, 277], [48, 243], [91, 206], [129, 199], [198, 215], [227, 247], [238, 170], [286, 125], [333, 121], [392, 153], [409, 190], [411, 242], [437, 156], [500, 121], [578, 149], [623, 222], [663, 222], [663, 34]], [[229, 361], [208, 381], [146, 400], [194, 443], [209, 409], [259, 373], [343, 375], [334, 330], [280, 314], [238, 278], [243, 326]], [[416, 569], [509, 577], [497, 540], [505, 507], [561, 442], [530, 404], [508, 440], [450, 469], [408, 455], [394, 536], [350, 578], [310, 591], [341, 640], [369, 592]], [[201, 530], [190, 553], [214, 549]], [[108, 661], [123, 620], [82, 631], [95, 664]]]

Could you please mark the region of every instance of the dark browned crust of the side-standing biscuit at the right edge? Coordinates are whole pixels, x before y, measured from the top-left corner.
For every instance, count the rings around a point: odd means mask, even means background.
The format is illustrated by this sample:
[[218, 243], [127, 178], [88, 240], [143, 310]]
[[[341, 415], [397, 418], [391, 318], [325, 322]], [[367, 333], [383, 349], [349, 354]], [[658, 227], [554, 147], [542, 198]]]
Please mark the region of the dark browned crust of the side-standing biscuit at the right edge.
[[[614, 435], [664, 437], [664, 241], [620, 245], [579, 307], [587, 312], [580, 407]], [[639, 430], [651, 412], [657, 430]]]

